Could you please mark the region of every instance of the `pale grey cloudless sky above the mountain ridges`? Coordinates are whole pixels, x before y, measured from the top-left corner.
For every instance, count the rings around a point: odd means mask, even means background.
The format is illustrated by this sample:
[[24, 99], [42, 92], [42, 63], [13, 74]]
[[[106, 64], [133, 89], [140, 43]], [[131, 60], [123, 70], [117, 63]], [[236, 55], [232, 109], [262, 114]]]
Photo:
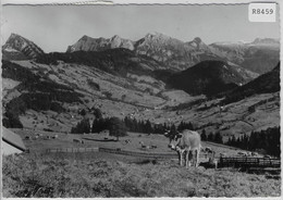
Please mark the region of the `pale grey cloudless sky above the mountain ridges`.
[[[278, 21], [278, 20], [276, 20]], [[11, 33], [34, 41], [45, 52], [64, 52], [81, 37], [138, 40], [162, 33], [183, 41], [206, 43], [279, 38], [280, 23], [248, 21], [248, 4], [234, 5], [4, 5], [1, 39]]]

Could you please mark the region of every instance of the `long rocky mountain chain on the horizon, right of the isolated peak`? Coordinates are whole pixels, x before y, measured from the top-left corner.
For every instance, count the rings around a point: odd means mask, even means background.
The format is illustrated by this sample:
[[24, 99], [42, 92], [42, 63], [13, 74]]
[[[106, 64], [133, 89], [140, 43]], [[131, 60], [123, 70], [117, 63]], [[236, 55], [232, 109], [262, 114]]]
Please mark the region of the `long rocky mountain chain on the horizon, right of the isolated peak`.
[[279, 62], [278, 39], [257, 38], [253, 42], [214, 42], [206, 45], [199, 37], [192, 41], [181, 41], [160, 33], [150, 33], [137, 41], [112, 38], [82, 37], [70, 46], [66, 52], [103, 51], [125, 48], [138, 55], [147, 55], [162, 63], [171, 71], [183, 71], [206, 60], [218, 60], [243, 66], [254, 73], [269, 72]]

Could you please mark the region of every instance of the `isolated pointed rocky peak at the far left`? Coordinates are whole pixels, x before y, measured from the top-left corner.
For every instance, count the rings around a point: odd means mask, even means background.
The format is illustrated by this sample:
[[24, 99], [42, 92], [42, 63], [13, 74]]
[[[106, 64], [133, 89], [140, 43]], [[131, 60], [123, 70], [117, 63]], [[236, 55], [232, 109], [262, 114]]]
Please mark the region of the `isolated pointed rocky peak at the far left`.
[[11, 34], [2, 47], [2, 53], [4, 60], [29, 60], [45, 52], [33, 41], [20, 35]]

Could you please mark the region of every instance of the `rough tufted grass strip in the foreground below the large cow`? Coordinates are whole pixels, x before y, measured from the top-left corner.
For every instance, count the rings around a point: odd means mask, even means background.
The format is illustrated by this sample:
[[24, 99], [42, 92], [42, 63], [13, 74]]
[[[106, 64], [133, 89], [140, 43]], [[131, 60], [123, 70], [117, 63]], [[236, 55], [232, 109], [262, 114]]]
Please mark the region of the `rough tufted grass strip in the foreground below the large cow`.
[[[3, 197], [279, 197], [281, 179], [173, 161], [3, 157]], [[142, 164], [143, 163], [143, 164]]]

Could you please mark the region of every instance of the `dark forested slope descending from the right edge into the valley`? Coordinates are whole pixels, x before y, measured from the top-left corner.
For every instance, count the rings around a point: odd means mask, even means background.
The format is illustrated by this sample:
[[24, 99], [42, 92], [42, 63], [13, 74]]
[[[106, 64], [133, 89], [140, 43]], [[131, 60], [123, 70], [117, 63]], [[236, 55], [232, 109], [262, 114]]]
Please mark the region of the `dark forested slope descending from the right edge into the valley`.
[[280, 91], [280, 63], [278, 63], [272, 71], [262, 74], [242, 87], [226, 92], [223, 103], [239, 101], [253, 95], [272, 93], [276, 91]]

